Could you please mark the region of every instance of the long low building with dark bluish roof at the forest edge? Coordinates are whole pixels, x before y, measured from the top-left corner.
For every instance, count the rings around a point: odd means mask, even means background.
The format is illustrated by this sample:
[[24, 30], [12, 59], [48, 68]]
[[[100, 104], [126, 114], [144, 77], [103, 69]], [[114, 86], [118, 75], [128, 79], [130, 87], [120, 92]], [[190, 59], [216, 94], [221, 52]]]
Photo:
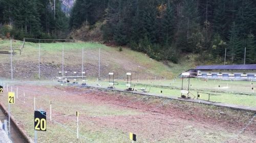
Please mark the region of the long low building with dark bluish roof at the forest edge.
[[198, 78], [256, 81], [256, 64], [197, 66], [195, 72]]

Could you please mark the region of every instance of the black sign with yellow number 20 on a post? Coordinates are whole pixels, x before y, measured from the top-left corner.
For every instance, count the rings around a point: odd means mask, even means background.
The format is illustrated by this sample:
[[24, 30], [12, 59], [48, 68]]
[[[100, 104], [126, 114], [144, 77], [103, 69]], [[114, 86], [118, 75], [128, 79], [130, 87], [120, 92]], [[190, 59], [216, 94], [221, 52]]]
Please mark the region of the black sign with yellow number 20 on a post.
[[45, 111], [34, 111], [34, 126], [37, 131], [46, 131]]

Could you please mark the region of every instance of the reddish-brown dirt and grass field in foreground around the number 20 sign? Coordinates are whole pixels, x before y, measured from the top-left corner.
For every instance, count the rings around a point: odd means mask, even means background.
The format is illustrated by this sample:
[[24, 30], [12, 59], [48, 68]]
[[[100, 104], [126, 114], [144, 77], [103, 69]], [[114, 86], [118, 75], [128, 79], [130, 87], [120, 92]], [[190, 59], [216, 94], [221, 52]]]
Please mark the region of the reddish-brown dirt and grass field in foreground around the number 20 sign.
[[[47, 111], [47, 132], [37, 132], [38, 142], [131, 142], [129, 132], [137, 135], [137, 142], [256, 142], [256, 119], [240, 133], [253, 117], [250, 112], [88, 88], [18, 86], [11, 110], [31, 138], [34, 95], [36, 109]], [[7, 93], [0, 102], [8, 107]]]

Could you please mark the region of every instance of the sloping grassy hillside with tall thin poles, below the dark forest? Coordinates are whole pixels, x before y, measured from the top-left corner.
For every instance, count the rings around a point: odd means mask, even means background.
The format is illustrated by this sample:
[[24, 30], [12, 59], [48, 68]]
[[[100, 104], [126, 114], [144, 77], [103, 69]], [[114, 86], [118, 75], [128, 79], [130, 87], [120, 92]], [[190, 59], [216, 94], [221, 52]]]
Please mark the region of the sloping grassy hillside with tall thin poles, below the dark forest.
[[[13, 41], [14, 48], [22, 45], [22, 41]], [[108, 77], [108, 72], [115, 72], [119, 78], [125, 77], [126, 72], [133, 72], [133, 77], [140, 79], [159, 78], [172, 79], [180, 72], [194, 67], [187, 60], [180, 60], [180, 64], [157, 62], [151, 60], [141, 52], [118, 47], [108, 47], [100, 43], [41, 43], [40, 44], [40, 68], [42, 78], [53, 78], [61, 71], [62, 45], [65, 54], [65, 71], [70, 74], [77, 71], [81, 74], [82, 47], [84, 47], [84, 69], [88, 76], [98, 75], [99, 48], [101, 51], [101, 77]], [[9, 40], [0, 41], [0, 48], [10, 47]], [[10, 77], [10, 55], [1, 54], [0, 77]], [[14, 78], [37, 78], [38, 77], [38, 44], [26, 42], [22, 54], [13, 56]]]

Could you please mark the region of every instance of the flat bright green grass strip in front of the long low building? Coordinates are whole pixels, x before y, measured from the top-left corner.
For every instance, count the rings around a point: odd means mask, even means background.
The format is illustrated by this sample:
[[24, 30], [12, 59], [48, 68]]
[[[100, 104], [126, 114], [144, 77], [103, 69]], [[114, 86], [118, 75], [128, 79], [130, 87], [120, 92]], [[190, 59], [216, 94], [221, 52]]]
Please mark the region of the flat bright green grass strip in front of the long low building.
[[[126, 82], [117, 81], [119, 85], [115, 85], [117, 89], [125, 89]], [[96, 85], [100, 83], [101, 87], [108, 87], [108, 81], [88, 81], [89, 84]], [[218, 85], [225, 87], [228, 83], [229, 89], [219, 89]], [[190, 93], [197, 96], [197, 92], [212, 93], [217, 95], [211, 95], [210, 101], [221, 102], [233, 105], [243, 105], [256, 107], [256, 91], [252, 93], [249, 81], [214, 81], [208, 80], [207, 82], [199, 79], [191, 79]], [[181, 79], [175, 81], [155, 81], [155, 80], [143, 80], [139, 82], [133, 82], [132, 88], [135, 85], [135, 89], [140, 91], [141, 88], [146, 88], [146, 91], [150, 90], [150, 93], [157, 94], [164, 97], [180, 97], [181, 93]], [[188, 81], [183, 81], [184, 89], [187, 90]], [[151, 87], [151, 88], [150, 88]], [[248, 88], [246, 88], [248, 87]], [[162, 91], [162, 93], [160, 93]], [[142, 92], [142, 91], [141, 91]], [[200, 93], [200, 99], [208, 100], [208, 94]], [[193, 96], [191, 96], [193, 97]]]

